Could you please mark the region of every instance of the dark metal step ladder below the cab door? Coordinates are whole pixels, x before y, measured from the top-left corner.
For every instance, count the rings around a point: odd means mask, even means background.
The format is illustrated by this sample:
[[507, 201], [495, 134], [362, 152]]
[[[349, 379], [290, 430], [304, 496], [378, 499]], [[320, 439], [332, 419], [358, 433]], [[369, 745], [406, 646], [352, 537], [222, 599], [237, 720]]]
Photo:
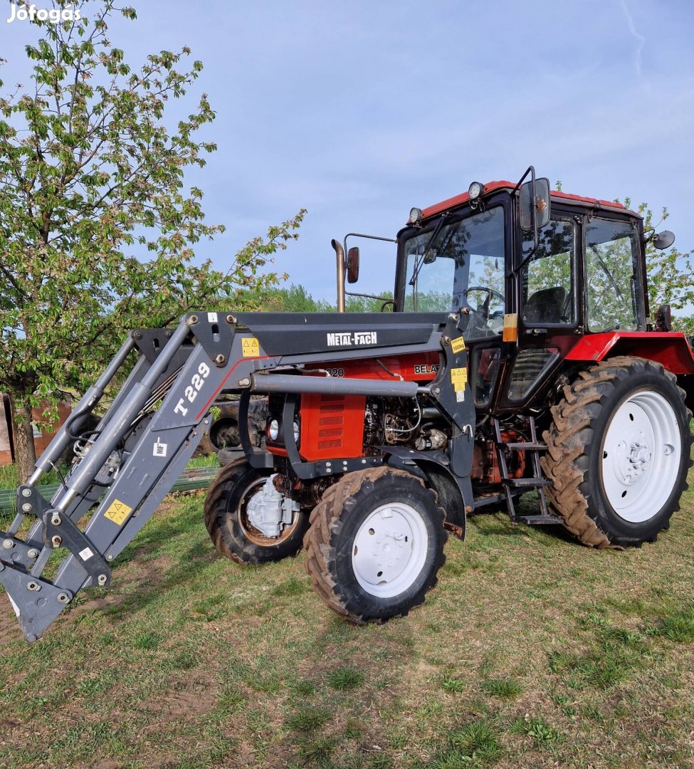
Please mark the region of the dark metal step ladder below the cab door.
[[[547, 498], [545, 494], [545, 488], [552, 485], [552, 481], [548, 481], [543, 478], [542, 469], [540, 468], [540, 451], [547, 450], [547, 444], [537, 440], [537, 431], [535, 428], [535, 419], [533, 417], [527, 417], [526, 421], [530, 428], [530, 441], [522, 441], [520, 443], [506, 443], [501, 437], [501, 428], [499, 420], [493, 418], [494, 425], [494, 443], [496, 444], [496, 455], [499, 459], [499, 468], [501, 471], [501, 482], [503, 483], [503, 489], [506, 493], [506, 504], [509, 508], [509, 516], [511, 523], [521, 524], [560, 524], [562, 519], [558, 515], [550, 513], [550, 509], [547, 506]], [[512, 451], [525, 451], [526, 461], [530, 457], [531, 468], [533, 475], [530, 478], [510, 478], [508, 464], [506, 458]], [[526, 464], [527, 467], [527, 464]], [[522, 489], [523, 491], [537, 490], [538, 497], [540, 498], [540, 510], [539, 515], [518, 515], [516, 514], [516, 506], [513, 501], [514, 491]], [[522, 493], [522, 492], [521, 492]]]

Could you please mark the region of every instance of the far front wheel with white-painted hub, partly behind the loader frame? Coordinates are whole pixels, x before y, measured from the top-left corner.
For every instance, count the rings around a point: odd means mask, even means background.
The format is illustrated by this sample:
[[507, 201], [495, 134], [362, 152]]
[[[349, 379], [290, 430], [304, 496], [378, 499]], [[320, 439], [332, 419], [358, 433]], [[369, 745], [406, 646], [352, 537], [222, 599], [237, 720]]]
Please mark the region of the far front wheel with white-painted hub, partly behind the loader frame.
[[269, 477], [241, 458], [221, 468], [208, 491], [205, 526], [214, 547], [237, 564], [280, 561], [301, 550], [308, 515], [283, 507], [265, 488]]

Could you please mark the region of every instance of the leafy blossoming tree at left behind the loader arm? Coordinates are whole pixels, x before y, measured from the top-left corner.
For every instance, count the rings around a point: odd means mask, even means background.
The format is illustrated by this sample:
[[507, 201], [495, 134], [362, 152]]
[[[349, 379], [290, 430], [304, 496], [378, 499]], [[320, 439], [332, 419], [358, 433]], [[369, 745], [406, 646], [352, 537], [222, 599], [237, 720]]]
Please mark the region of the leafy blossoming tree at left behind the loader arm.
[[179, 71], [183, 48], [131, 68], [108, 39], [116, 10], [114, 0], [83, 0], [81, 18], [34, 14], [31, 91], [0, 98], [0, 389], [12, 398], [20, 479], [35, 461], [32, 406], [83, 390], [129, 328], [166, 325], [219, 298], [252, 308], [245, 289], [277, 283], [258, 270], [304, 215], [248, 243], [225, 272], [194, 263], [194, 244], [224, 231], [204, 221], [201, 190], [184, 184], [216, 148], [196, 135], [214, 112], [203, 94], [175, 130], [164, 116], [202, 65]]

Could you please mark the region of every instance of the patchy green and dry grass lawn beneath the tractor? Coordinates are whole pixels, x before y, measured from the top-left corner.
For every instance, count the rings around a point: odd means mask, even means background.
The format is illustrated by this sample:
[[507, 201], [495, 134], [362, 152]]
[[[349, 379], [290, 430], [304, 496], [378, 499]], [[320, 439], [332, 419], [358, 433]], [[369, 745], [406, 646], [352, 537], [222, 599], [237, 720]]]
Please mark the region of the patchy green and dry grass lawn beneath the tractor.
[[301, 555], [217, 556], [203, 501], [168, 498], [34, 645], [5, 606], [0, 766], [694, 766], [689, 492], [625, 552], [475, 516], [427, 602], [364, 628]]

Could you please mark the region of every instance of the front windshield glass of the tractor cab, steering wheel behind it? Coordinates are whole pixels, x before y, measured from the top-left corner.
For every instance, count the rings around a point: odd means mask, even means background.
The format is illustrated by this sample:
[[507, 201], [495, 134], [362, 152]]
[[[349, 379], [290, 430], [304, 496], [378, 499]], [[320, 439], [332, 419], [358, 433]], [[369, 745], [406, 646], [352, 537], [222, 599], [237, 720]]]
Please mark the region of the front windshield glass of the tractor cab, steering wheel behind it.
[[408, 238], [404, 249], [405, 311], [449, 312], [469, 307], [468, 335], [501, 332], [503, 208], [479, 211], [443, 226], [435, 221]]

